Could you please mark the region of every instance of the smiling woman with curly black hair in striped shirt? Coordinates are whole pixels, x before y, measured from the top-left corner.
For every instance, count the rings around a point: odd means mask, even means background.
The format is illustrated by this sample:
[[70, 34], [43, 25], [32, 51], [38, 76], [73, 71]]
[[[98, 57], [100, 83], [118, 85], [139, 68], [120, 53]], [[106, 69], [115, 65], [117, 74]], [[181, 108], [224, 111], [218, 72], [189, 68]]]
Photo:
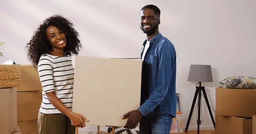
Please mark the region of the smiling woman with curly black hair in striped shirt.
[[39, 134], [75, 134], [75, 127], [83, 128], [84, 121], [88, 122], [72, 112], [74, 68], [70, 56], [81, 48], [78, 36], [72, 22], [54, 15], [39, 26], [26, 46], [43, 87]]

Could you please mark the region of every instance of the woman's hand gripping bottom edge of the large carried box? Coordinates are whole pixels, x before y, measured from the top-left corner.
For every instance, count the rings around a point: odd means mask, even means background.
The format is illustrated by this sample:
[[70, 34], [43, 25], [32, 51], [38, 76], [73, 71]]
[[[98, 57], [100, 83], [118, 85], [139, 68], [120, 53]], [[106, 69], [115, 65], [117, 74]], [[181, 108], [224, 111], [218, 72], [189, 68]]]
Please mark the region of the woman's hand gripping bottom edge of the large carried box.
[[68, 116], [72, 122], [72, 125], [75, 127], [83, 128], [85, 127], [85, 121], [89, 122], [83, 115], [75, 112], [71, 112]]

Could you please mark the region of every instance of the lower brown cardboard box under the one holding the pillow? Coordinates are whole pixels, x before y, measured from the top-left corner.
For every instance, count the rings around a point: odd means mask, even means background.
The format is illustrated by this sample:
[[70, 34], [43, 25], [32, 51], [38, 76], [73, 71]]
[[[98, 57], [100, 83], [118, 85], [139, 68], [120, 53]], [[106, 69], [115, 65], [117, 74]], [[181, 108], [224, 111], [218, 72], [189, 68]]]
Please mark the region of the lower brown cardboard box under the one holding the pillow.
[[252, 134], [252, 118], [216, 115], [216, 134]]

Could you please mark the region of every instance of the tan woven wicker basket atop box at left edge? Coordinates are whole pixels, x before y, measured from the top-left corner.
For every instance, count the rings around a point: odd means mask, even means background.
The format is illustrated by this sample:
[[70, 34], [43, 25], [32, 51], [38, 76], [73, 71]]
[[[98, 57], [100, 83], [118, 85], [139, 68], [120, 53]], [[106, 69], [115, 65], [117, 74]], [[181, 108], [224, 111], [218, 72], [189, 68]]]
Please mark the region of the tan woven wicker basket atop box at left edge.
[[19, 87], [20, 85], [20, 64], [0, 65], [0, 88]]

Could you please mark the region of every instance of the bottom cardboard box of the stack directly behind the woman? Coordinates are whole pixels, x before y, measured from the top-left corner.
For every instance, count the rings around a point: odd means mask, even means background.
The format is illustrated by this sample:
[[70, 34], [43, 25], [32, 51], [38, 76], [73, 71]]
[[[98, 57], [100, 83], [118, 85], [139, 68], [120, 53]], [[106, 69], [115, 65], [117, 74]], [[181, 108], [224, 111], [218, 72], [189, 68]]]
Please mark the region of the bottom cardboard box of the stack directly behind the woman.
[[21, 134], [38, 134], [38, 120], [29, 120], [18, 123]]

